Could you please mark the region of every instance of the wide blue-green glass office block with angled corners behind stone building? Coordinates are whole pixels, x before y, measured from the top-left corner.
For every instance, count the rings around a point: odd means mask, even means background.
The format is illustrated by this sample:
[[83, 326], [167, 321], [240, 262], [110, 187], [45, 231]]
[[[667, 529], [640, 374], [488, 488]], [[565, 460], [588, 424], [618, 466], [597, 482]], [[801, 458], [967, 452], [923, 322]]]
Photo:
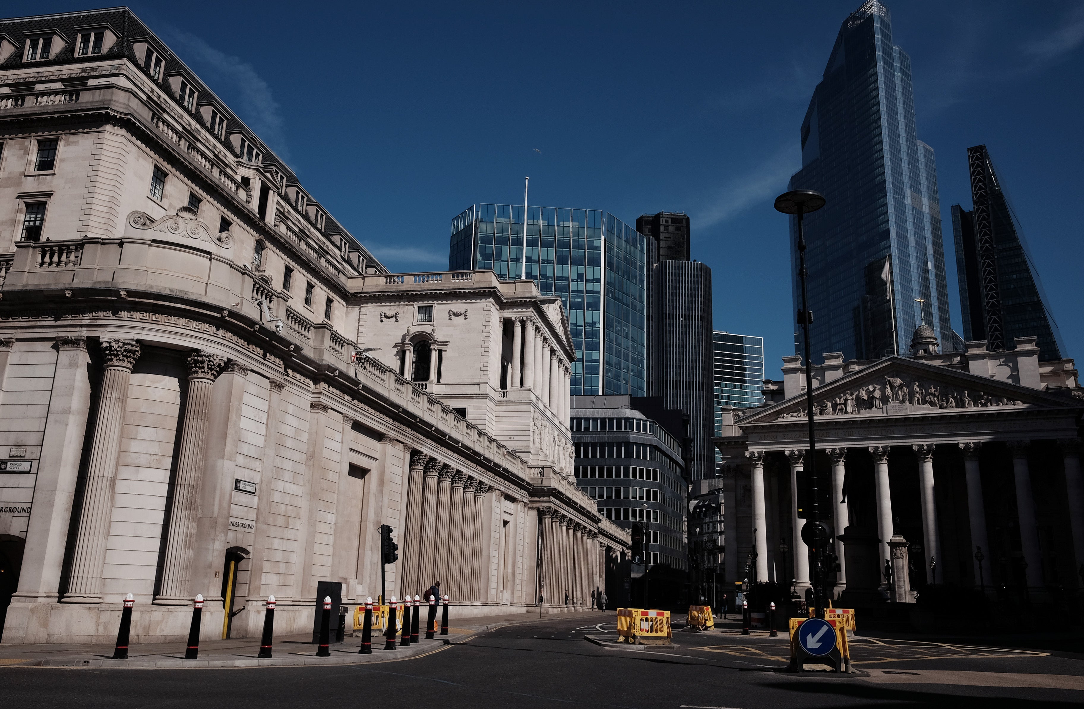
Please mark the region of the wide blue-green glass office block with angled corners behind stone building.
[[[646, 395], [650, 241], [601, 209], [529, 207], [527, 278], [565, 304], [576, 345], [572, 396]], [[518, 279], [522, 246], [522, 205], [473, 205], [452, 219], [448, 268]]]

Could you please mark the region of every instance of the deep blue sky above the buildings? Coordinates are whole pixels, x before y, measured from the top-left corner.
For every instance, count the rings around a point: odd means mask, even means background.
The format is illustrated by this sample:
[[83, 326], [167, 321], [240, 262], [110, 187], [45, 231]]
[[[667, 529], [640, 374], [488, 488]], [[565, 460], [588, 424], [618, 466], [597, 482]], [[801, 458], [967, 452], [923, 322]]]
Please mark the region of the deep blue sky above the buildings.
[[[144, 22], [390, 269], [448, 266], [469, 204], [687, 211], [719, 330], [792, 351], [786, 220], [805, 107], [842, 20], [799, 2], [136, 2]], [[1084, 358], [1084, 3], [898, 0], [918, 134], [949, 205], [990, 146], [1068, 346]], [[9, 0], [3, 14], [87, 2]], [[535, 149], [541, 153], [535, 152]]]

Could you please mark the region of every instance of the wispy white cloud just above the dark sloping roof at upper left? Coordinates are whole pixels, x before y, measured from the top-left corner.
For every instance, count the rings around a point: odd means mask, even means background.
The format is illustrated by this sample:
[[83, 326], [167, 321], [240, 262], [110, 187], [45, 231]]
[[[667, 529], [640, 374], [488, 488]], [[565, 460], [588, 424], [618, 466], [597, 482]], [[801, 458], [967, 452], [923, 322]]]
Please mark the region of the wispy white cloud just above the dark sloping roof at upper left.
[[175, 30], [173, 44], [185, 50], [185, 63], [210, 88], [227, 101], [242, 120], [284, 160], [289, 160], [286, 121], [282, 106], [274, 100], [271, 86], [253, 65], [238, 56], [221, 52], [199, 37]]

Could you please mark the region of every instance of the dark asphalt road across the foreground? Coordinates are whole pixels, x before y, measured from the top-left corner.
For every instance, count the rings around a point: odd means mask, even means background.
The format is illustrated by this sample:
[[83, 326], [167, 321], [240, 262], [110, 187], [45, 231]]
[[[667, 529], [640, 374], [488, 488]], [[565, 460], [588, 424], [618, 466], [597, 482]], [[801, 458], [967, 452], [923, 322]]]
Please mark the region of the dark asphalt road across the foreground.
[[[610, 648], [612, 616], [513, 626], [424, 657], [347, 667], [0, 669], [7, 707], [636, 707], [643, 709], [1080, 707], [1084, 654], [861, 639], [868, 676], [798, 676], [786, 637], [674, 633], [676, 647]], [[1084, 649], [1084, 648], [1082, 648]], [[1023, 685], [1023, 686], [1020, 686]], [[1028, 686], [1033, 685], [1033, 686]], [[1075, 687], [1075, 688], [1069, 688]], [[973, 705], [972, 705], [973, 706]]]

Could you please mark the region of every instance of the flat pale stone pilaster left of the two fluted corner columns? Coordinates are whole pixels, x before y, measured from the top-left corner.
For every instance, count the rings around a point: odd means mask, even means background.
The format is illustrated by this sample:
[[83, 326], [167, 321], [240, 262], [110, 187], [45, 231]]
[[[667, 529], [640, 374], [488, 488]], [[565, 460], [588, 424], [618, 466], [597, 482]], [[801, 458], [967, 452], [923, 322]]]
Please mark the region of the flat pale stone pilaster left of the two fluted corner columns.
[[[16, 613], [24, 613], [16, 611], [16, 605], [56, 602], [79, 477], [79, 457], [90, 414], [89, 366], [86, 337], [65, 335], [56, 338], [56, 369], [42, 434], [34, 505], [27, 521], [18, 591], [8, 608], [10, 629], [4, 633], [8, 642], [44, 643], [49, 634], [47, 626], [35, 622], [48, 623], [48, 614], [36, 618], [33, 607], [27, 608], [25, 613], [30, 617], [24, 623], [16, 620]], [[23, 628], [25, 635], [21, 634]]]

